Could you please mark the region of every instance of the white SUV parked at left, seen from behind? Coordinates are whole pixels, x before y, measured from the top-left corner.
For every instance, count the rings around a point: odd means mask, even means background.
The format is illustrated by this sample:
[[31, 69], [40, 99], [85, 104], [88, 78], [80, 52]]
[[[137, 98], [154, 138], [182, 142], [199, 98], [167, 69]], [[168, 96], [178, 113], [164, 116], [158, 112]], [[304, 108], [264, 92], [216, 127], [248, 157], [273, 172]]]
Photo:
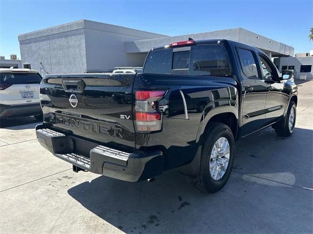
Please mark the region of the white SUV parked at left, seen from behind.
[[0, 119], [34, 116], [40, 120], [41, 80], [35, 70], [0, 68]]

